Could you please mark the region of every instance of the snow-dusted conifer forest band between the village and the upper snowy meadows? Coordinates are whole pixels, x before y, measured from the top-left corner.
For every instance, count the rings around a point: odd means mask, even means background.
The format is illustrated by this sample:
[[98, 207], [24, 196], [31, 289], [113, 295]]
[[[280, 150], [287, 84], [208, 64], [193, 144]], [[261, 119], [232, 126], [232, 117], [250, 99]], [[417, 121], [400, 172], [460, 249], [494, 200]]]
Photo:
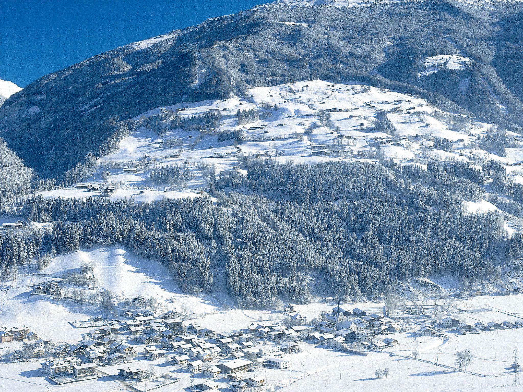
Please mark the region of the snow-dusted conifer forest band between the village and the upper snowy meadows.
[[311, 278], [325, 293], [354, 296], [449, 271], [485, 279], [523, 248], [521, 236], [506, 239], [498, 213], [463, 214], [457, 196], [482, 197], [464, 167], [245, 165], [246, 177], [211, 176], [215, 206], [210, 198], [29, 198], [22, 215], [56, 223], [47, 234], [0, 237], [3, 273], [48, 252], [122, 244], [165, 264], [183, 290], [225, 290], [253, 307], [278, 297], [307, 302]]

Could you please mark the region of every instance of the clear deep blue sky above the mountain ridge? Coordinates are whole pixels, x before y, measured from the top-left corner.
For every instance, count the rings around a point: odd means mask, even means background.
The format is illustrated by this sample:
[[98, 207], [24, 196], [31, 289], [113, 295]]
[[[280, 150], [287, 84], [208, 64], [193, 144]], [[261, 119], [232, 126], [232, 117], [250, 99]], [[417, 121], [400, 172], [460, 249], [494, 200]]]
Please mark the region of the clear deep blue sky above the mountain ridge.
[[20, 87], [126, 43], [268, 0], [0, 0], [0, 79]]

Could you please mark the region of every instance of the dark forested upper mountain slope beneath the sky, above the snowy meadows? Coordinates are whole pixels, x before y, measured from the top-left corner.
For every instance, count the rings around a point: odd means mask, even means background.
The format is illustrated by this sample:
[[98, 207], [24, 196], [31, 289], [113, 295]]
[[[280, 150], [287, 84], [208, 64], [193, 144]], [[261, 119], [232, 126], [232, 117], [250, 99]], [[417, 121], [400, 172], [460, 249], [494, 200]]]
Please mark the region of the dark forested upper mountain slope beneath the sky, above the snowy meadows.
[[[89, 153], [112, 151], [126, 120], [148, 108], [316, 78], [409, 91], [520, 132], [521, 7], [260, 6], [44, 76], [0, 108], [0, 132], [29, 167], [59, 177]], [[426, 57], [457, 50], [470, 57], [467, 67], [418, 76]]]

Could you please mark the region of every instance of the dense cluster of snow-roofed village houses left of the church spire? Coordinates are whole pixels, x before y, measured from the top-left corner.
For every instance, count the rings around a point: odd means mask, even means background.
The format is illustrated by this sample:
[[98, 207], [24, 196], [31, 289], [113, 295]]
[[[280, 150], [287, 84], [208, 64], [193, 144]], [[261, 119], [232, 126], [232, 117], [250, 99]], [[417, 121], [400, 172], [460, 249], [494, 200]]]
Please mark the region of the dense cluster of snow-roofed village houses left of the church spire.
[[[288, 369], [287, 355], [300, 349], [283, 341], [299, 340], [313, 329], [306, 325], [287, 328], [278, 320], [253, 322], [244, 329], [218, 333], [197, 322], [184, 323], [176, 315], [174, 310], [163, 314], [126, 312], [123, 320], [108, 321], [83, 333], [76, 344], [56, 344], [55, 358], [44, 362], [40, 371], [57, 383], [79, 381], [97, 377], [99, 366], [128, 364], [140, 355], [151, 361], [164, 358], [170, 365], [184, 368], [191, 377], [203, 381], [194, 389], [215, 389], [220, 384], [214, 380], [221, 378], [230, 389], [244, 391], [265, 384], [264, 377], [254, 374], [254, 367]], [[292, 316], [296, 324], [305, 324], [299, 313]], [[259, 344], [260, 337], [273, 344]], [[148, 373], [127, 366], [121, 367], [118, 375], [138, 381]]]

